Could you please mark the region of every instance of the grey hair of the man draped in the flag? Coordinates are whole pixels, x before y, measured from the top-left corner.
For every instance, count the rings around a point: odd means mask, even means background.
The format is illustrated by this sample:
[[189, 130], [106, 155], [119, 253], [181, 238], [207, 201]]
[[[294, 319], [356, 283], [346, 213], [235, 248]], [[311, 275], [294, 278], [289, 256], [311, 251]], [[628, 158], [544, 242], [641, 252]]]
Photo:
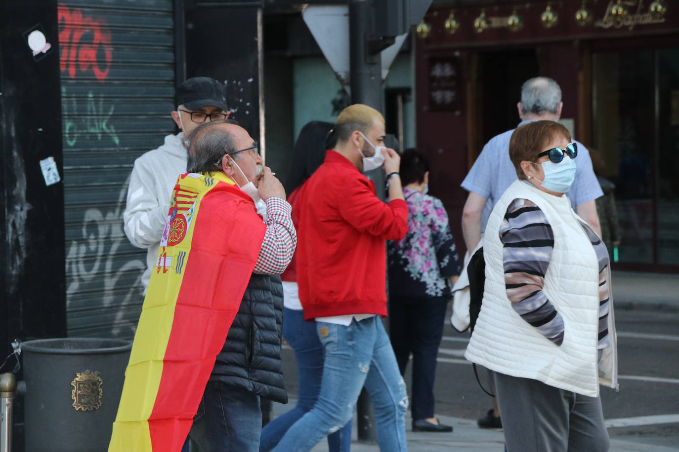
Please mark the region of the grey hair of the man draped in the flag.
[[228, 152], [234, 152], [234, 136], [221, 124], [236, 124], [233, 119], [221, 119], [202, 123], [189, 133], [189, 152], [186, 162], [186, 171], [189, 173], [204, 173], [212, 176], [213, 171], [219, 171], [215, 162], [224, 157]]

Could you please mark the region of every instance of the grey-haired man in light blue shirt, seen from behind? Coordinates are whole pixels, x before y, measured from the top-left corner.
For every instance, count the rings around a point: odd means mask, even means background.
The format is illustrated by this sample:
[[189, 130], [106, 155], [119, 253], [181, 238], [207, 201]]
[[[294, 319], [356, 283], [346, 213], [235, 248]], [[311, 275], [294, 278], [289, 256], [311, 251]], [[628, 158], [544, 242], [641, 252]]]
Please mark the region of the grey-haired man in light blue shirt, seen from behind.
[[[558, 121], [564, 102], [561, 88], [547, 77], [534, 77], [521, 86], [521, 101], [517, 104], [521, 122], [517, 127], [540, 120]], [[462, 234], [469, 253], [481, 241], [485, 220], [502, 193], [517, 180], [514, 165], [509, 159], [509, 139], [514, 129], [493, 137], [481, 150], [473, 167], [462, 181], [462, 188], [469, 196], [462, 211]], [[574, 141], [576, 142], [576, 141]], [[601, 233], [595, 199], [603, 192], [594, 175], [589, 151], [583, 144], [578, 145], [578, 162], [575, 182], [566, 196], [573, 209], [598, 234]], [[485, 214], [485, 215], [484, 215]], [[486, 417], [479, 419], [479, 427], [501, 428], [497, 406]]]

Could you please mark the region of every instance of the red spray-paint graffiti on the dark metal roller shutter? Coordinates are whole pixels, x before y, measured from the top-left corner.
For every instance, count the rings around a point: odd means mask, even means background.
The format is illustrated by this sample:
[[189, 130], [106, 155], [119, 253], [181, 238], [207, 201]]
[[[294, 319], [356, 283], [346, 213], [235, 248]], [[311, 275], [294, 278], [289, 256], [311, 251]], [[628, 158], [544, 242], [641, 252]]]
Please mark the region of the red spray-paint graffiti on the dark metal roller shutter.
[[105, 81], [113, 54], [111, 32], [106, 21], [83, 17], [80, 9], [69, 10], [59, 3], [58, 22], [61, 71], [66, 70], [74, 79], [76, 68], [83, 72], [91, 68], [98, 81]]

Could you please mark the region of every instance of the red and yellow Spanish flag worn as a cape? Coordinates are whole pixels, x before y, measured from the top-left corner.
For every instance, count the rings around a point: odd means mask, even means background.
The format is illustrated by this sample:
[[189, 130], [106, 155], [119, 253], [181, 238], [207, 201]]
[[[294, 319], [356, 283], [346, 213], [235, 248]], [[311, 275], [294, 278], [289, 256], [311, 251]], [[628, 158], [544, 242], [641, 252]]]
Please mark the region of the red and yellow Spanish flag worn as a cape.
[[265, 229], [252, 199], [223, 173], [179, 176], [109, 452], [181, 451]]

